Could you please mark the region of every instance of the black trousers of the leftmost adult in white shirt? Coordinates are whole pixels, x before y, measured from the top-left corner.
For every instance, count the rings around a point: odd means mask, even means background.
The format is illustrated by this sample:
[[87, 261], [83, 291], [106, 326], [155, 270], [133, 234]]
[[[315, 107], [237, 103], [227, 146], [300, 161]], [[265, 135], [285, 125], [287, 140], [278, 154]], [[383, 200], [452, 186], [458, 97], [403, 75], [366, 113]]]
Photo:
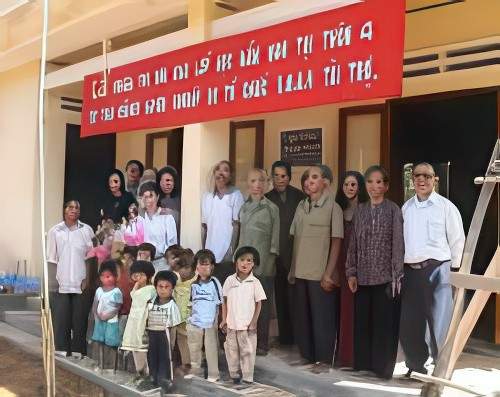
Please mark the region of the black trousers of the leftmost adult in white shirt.
[[87, 354], [87, 323], [94, 293], [94, 289], [86, 289], [81, 294], [51, 294], [56, 350]]

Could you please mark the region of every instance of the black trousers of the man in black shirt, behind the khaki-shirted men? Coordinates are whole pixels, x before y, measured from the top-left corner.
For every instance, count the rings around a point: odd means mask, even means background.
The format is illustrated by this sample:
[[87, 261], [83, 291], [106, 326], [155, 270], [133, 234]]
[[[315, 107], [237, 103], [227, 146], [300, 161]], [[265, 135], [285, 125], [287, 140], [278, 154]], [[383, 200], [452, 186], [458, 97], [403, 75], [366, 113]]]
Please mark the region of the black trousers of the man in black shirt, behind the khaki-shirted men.
[[276, 258], [276, 277], [274, 279], [274, 296], [276, 298], [276, 316], [278, 317], [279, 341], [282, 345], [293, 344], [293, 323], [291, 316], [292, 286], [288, 283], [287, 268], [281, 258]]

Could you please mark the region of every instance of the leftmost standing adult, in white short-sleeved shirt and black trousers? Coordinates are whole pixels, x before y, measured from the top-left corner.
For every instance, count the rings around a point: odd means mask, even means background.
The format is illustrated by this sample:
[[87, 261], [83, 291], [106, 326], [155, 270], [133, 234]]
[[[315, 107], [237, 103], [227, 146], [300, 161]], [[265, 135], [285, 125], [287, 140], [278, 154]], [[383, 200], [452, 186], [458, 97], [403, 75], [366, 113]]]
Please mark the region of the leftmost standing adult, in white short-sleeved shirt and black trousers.
[[[80, 203], [63, 206], [63, 221], [47, 234], [47, 261], [56, 267], [58, 292], [54, 297], [54, 343], [61, 355], [87, 352], [85, 335], [94, 291], [86, 278], [85, 255], [92, 248], [94, 232], [79, 221]], [[97, 274], [97, 269], [95, 269]]]

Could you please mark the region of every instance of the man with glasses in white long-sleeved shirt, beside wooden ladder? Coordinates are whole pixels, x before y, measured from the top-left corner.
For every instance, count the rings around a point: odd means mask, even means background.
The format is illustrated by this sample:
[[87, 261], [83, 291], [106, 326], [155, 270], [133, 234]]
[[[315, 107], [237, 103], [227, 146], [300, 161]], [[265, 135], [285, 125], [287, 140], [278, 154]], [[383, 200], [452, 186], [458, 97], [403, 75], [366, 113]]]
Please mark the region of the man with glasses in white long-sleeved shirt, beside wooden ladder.
[[[465, 234], [457, 207], [434, 191], [436, 175], [429, 163], [413, 169], [415, 196], [403, 206], [405, 266], [400, 342], [409, 371], [427, 373], [436, 360], [453, 311], [450, 268], [462, 260]], [[426, 337], [426, 333], [427, 337]]]

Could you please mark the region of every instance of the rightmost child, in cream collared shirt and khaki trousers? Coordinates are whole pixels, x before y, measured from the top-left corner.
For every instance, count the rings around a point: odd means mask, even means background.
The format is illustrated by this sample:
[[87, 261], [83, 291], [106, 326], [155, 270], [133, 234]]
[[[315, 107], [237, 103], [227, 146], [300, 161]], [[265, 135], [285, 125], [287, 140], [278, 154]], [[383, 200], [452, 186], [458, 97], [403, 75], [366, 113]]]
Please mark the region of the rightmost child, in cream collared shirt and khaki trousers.
[[[259, 253], [253, 247], [238, 248], [234, 255], [236, 273], [224, 282], [222, 294], [222, 322], [220, 328], [227, 333], [226, 351], [229, 375], [234, 383], [253, 383], [255, 353], [257, 350], [257, 320], [262, 301], [267, 299], [260, 281], [253, 275], [259, 266]], [[240, 376], [241, 371], [241, 376]]]

